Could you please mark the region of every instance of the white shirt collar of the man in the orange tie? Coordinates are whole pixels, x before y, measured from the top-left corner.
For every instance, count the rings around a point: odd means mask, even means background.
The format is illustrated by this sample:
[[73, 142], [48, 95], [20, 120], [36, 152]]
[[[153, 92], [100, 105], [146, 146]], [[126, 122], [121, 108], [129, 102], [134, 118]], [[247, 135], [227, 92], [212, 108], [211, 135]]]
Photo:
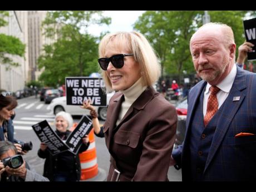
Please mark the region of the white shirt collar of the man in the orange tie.
[[[221, 81], [216, 87], [219, 87], [221, 91], [224, 91], [226, 93], [229, 93], [231, 90], [231, 87], [233, 85], [233, 82], [235, 80], [235, 76], [237, 75], [237, 66], [233, 65], [232, 70], [230, 71], [229, 75], [224, 78], [223, 81]], [[209, 92], [211, 85], [207, 83], [205, 88], [205, 93], [207, 94]]]

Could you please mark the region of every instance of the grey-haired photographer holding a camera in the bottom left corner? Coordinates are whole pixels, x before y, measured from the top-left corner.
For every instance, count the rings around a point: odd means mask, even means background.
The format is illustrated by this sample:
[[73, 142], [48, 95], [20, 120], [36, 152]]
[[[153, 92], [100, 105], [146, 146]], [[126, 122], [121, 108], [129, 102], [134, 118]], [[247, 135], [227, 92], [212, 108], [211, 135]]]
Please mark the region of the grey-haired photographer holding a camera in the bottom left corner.
[[49, 181], [31, 170], [22, 156], [13, 161], [9, 160], [16, 154], [17, 149], [11, 142], [0, 141], [0, 181]]

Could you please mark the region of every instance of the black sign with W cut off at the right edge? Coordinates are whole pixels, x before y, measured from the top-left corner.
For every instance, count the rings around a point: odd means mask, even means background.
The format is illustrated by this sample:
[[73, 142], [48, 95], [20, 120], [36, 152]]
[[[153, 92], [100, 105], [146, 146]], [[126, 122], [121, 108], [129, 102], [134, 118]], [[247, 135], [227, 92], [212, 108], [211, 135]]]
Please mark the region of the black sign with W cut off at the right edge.
[[253, 43], [253, 52], [248, 52], [248, 60], [256, 60], [256, 18], [244, 21], [244, 32], [247, 42]]

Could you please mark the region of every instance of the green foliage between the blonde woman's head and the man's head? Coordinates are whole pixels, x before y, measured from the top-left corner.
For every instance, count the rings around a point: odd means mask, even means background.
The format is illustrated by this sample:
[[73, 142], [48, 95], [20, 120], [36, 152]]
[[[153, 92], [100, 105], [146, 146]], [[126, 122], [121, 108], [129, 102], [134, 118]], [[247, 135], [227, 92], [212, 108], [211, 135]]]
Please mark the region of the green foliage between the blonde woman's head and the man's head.
[[200, 23], [199, 14], [200, 11], [146, 11], [135, 23], [134, 28], [146, 35], [159, 56], [162, 76], [183, 70], [190, 57], [190, 37]]

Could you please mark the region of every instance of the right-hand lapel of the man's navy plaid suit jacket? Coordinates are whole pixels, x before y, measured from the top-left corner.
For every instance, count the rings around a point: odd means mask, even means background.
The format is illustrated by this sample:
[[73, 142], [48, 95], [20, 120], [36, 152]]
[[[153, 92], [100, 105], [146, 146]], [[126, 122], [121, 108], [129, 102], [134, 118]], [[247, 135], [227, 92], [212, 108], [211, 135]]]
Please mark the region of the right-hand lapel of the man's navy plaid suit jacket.
[[[237, 113], [240, 105], [242, 104], [245, 95], [242, 92], [244, 88], [246, 88], [246, 80], [243, 75], [244, 72], [239, 67], [237, 67], [237, 75], [235, 77], [233, 86], [230, 90], [229, 96], [223, 103], [224, 108], [220, 114], [221, 120], [218, 121], [216, 126], [215, 134], [213, 137], [213, 141], [211, 142], [211, 147], [209, 150], [208, 158], [206, 160], [205, 169], [208, 168], [211, 160], [213, 160], [213, 156], [219, 148], [221, 141], [224, 139], [224, 136], [229, 128], [230, 123], [232, 122], [235, 114]], [[239, 101], [233, 101], [233, 97], [240, 97]]]

